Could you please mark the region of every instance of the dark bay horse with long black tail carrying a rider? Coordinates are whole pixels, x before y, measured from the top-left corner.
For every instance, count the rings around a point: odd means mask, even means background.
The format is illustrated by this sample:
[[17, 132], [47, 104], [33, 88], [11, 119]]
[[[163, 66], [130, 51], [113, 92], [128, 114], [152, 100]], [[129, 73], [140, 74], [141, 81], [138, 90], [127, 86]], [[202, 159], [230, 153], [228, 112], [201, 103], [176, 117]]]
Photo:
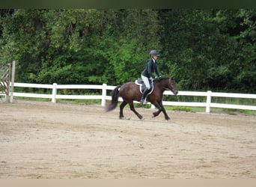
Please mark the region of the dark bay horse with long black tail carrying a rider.
[[[156, 117], [162, 111], [163, 114], [165, 114], [165, 120], [170, 120], [170, 117], [168, 117], [168, 114], [166, 114], [165, 108], [162, 105], [162, 93], [166, 89], [171, 90], [175, 95], [178, 93], [175, 79], [161, 78], [157, 81], [155, 80], [153, 84], [153, 92], [149, 96], [147, 96], [147, 100], [155, 105], [156, 108], [158, 108], [158, 111], [153, 112], [153, 117]], [[106, 111], [112, 111], [117, 107], [119, 94], [124, 100], [120, 105], [120, 119], [124, 117], [123, 109], [124, 106], [127, 104], [129, 104], [129, 108], [138, 116], [138, 118], [142, 119], [141, 114], [138, 114], [138, 112], [135, 111], [133, 105], [134, 100], [140, 101], [141, 99], [141, 92], [139, 91], [139, 86], [136, 85], [134, 82], [127, 82], [124, 85], [118, 85], [112, 91], [112, 102], [107, 105]]]

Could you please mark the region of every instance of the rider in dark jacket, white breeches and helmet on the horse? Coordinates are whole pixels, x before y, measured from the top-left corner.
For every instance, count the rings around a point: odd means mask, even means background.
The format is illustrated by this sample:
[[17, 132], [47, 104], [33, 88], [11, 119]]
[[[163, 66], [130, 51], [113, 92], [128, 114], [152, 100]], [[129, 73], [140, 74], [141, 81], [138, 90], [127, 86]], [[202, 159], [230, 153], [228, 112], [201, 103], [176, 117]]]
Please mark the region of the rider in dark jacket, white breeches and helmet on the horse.
[[151, 85], [149, 79], [153, 80], [156, 79], [156, 76], [153, 75], [154, 72], [156, 72], [156, 75], [158, 77], [161, 77], [158, 70], [157, 70], [157, 63], [156, 59], [159, 56], [159, 52], [157, 52], [155, 49], [150, 51], [150, 59], [147, 61], [147, 67], [143, 70], [141, 73], [141, 79], [143, 80], [144, 84], [146, 85], [146, 88], [141, 96], [141, 103], [145, 102], [145, 97], [147, 96], [147, 93], [150, 91]]

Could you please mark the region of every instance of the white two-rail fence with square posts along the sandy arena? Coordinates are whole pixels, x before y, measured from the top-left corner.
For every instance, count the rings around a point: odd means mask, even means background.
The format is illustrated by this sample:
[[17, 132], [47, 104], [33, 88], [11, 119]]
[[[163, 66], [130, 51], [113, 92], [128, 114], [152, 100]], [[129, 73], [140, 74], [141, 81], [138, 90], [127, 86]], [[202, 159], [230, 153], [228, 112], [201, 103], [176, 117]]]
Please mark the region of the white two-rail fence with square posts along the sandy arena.
[[[56, 99], [101, 99], [101, 105], [106, 105], [106, 100], [111, 100], [112, 97], [107, 95], [107, 90], [113, 90], [115, 86], [103, 85], [42, 85], [42, 84], [27, 84], [27, 83], [14, 83], [14, 88], [47, 88], [52, 90], [52, 94], [40, 94], [40, 93], [13, 93], [13, 96], [22, 97], [35, 97], [35, 98], [48, 98], [52, 99], [52, 102], [56, 102]], [[60, 95], [57, 93], [59, 89], [92, 89], [101, 90], [101, 95]], [[165, 91], [164, 95], [173, 95], [171, 91]], [[233, 97], [233, 98], [247, 98], [256, 99], [256, 94], [246, 93], [218, 93], [218, 92], [198, 92], [198, 91], [179, 91], [179, 96], [206, 96], [206, 102], [169, 102], [163, 101], [163, 105], [177, 105], [177, 106], [200, 106], [205, 107], [206, 112], [210, 112], [210, 108], [234, 108], [244, 110], [256, 110], [256, 105], [233, 105], [211, 102], [213, 96], [217, 97]], [[121, 97], [119, 101], [122, 101]]]

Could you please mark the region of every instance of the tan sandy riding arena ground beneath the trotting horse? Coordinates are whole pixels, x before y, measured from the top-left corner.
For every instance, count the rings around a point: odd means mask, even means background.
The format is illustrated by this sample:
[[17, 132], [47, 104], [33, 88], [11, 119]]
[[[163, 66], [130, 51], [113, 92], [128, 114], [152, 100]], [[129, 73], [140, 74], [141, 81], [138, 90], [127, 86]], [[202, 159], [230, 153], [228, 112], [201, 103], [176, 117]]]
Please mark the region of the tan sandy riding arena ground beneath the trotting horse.
[[256, 116], [0, 103], [0, 178], [256, 178]]

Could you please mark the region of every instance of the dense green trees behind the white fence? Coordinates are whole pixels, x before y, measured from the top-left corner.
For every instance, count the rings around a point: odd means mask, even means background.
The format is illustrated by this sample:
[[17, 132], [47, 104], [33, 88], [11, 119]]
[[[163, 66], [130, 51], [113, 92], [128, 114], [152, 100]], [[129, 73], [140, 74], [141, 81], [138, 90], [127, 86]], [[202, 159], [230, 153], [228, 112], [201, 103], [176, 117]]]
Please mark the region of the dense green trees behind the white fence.
[[150, 49], [180, 90], [255, 93], [256, 10], [0, 10], [0, 62], [16, 82], [118, 85]]

